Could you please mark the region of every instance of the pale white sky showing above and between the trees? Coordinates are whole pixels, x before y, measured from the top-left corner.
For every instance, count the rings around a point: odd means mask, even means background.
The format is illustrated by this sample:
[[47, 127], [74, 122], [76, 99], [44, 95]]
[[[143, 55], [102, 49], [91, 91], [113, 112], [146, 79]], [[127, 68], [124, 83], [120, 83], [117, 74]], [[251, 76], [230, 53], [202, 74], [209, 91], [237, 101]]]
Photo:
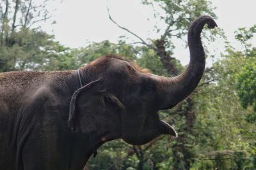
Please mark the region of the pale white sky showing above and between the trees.
[[[212, 6], [216, 6], [214, 11], [218, 16], [216, 20], [228, 38], [234, 43], [234, 31], [238, 27], [251, 27], [256, 24], [256, 0], [211, 0]], [[143, 39], [158, 38], [160, 34], [154, 33], [154, 25], [157, 23], [153, 17], [150, 6], [140, 4], [140, 0], [65, 0], [63, 3], [52, 3], [51, 8], [56, 8], [56, 24], [51, 22], [40, 23], [42, 29], [49, 34], [54, 34], [56, 40], [62, 45], [77, 48], [86, 46], [86, 42], [100, 42], [108, 39], [116, 43], [119, 36], [128, 36], [129, 42], [138, 41], [131, 34], [119, 29], [108, 18], [107, 7], [109, 6], [111, 16], [118, 24], [127, 27]], [[157, 23], [158, 27], [165, 28], [164, 24]], [[189, 62], [188, 49], [184, 50], [184, 43], [177, 41], [175, 57], [185, 65]], [[234, 43], [239, 48], [239, 43]], [[223, 51], [224, 44], [217, 40], [211, 51]], [[219, 55], [219, 54], [217, 54]], [[211, 61], [208, 61], [208, 64]]]

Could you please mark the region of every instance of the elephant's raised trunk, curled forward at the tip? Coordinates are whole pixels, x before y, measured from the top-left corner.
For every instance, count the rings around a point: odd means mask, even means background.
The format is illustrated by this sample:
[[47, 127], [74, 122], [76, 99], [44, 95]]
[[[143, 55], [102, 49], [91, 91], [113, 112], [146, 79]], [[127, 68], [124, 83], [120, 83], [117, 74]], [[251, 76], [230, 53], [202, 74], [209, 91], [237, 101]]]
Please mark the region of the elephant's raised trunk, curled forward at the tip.
[[201, 43], [200, 33], [207, 24], [210, 29], [217, 27], [214, 20], [206, 15], [202, 15], [190, 25], [188, 31], [188, 46], [190, 52], [190, 62], [184, 73], [173, 78], [160, 76], [159, 89], [159, 108], [164, 110], [172, 108], [184, 98], [189, 96], [196, 88], [205, 67], [205, 53]]

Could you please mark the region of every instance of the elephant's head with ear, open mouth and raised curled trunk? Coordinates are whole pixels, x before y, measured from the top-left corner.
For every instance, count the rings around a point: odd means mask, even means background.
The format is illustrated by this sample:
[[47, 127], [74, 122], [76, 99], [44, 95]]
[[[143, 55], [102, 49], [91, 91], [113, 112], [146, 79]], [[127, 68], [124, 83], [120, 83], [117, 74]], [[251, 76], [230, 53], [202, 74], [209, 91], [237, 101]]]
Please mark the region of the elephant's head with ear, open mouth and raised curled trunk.
[[143, 145], [161, 134], [177, 137], [175, 130], [159, 119], [157, 111], [173, 108], [198, 85], [205, 67], [200, 32], [211, 17], [201, 16], [190, 26], [191, 60], [184, 73], [166, 78], [143, 71], [118, 57], [102, 57], [79, 69], [84, 87], [70, 103], [69, 124], [75, 131], [97, 132], [102, 141], [122, 138]]

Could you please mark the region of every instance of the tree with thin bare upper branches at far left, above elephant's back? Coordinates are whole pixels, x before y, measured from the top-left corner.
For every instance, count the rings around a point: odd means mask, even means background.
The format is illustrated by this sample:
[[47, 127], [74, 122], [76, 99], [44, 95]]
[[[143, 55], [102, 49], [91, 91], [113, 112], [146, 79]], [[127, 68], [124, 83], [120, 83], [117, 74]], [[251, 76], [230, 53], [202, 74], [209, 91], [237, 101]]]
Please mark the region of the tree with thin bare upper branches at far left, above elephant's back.
[[42, 64], [49, 62], [49, 58], [44, 56], [54, 53], [52, 46], [60, 46], [53, 41], [54, 36], [39, 28], [31, 28], [37, 22], [51, 18], [51, 13], [45, 8], [46, 3], [47, 0], [40, 4], [33, 0], [1, 2], [4, 10], [0, 23], [0, 71], [40, 70]]

